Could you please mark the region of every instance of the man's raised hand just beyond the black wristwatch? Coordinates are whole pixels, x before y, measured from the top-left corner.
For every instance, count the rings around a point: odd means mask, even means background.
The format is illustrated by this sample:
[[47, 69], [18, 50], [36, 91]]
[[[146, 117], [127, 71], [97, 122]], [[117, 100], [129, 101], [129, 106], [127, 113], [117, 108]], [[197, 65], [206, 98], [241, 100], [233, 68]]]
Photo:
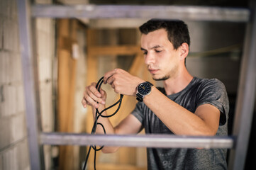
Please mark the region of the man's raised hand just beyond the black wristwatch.
[[128, 96], [136, 96], [136, 88], [143, 82], [143, 79], [134, 77], [123, 69], [114, 69], [104, 75], [104, 84], [110, 84], [117, 94]]

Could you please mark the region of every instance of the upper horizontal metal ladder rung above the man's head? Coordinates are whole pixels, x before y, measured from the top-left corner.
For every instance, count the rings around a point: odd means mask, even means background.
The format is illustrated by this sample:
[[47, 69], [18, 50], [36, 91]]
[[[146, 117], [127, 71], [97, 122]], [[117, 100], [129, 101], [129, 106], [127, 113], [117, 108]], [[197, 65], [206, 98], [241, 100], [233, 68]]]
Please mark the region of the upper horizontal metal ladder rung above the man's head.
[[33, 5], [33, 17], [50, 18], [167, 18], [185, 21], [247, 22], [247, 8], [208, 6], [129, 6], [129, 5]]

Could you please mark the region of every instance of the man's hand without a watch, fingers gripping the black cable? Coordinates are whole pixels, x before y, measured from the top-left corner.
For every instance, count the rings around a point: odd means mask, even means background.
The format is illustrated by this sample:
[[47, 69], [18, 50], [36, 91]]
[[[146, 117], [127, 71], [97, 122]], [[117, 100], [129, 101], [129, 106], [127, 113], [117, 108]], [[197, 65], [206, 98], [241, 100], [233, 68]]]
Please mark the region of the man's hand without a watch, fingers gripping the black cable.
[[[98, 102], [98, 103], [97, 103]], [[96, 89], [96, 83], [92, 83], [90, 86], [86, 86], [84, 91], [84, 97], [82, 98], [82, 105], [84, 108], [87, 105], [94, 108], [99, 108], [99, 103], [105, 104], [106, 92], [100, 89], [100, 92]]]

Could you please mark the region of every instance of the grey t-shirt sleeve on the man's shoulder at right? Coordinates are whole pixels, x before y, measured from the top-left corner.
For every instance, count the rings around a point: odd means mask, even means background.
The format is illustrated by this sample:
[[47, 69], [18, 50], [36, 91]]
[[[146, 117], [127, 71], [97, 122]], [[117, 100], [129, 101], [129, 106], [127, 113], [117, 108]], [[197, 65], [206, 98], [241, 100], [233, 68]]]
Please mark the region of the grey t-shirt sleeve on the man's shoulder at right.
[[215, 106], [221, 111], [220, 125], [224, 125], [228, 120], [228, 94], [224, 84], [218, 79], [210, 79], [201, 84], [197, 107], [206, 103]]

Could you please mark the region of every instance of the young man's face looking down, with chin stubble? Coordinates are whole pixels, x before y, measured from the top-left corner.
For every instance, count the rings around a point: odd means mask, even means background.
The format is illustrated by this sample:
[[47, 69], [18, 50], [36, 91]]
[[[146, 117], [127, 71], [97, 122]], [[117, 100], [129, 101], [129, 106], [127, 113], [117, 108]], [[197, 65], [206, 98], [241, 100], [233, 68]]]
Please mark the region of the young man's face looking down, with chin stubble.
[[167, 38], [165, 29], [155, 30], [141, 36], [141, 50], [145, 64], [155, 80], [175, 78], [179, 74], [179, 50]]

